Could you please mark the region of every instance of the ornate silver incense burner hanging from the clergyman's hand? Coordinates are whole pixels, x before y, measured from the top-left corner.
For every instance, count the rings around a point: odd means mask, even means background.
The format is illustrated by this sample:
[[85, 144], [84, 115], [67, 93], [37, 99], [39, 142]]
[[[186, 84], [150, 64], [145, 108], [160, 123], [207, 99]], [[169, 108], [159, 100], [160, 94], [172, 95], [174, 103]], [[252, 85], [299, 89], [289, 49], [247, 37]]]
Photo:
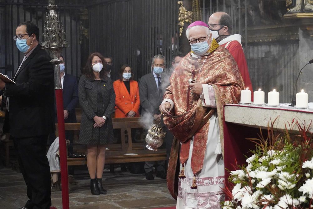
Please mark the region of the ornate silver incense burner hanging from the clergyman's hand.
[[159, 147], [163, 144], [163, 138], [165, 137], [165, 132], [161, 126], [157, 124], [152, 124], [146, 135], [146, 148], [151, 151], [157, 151]]

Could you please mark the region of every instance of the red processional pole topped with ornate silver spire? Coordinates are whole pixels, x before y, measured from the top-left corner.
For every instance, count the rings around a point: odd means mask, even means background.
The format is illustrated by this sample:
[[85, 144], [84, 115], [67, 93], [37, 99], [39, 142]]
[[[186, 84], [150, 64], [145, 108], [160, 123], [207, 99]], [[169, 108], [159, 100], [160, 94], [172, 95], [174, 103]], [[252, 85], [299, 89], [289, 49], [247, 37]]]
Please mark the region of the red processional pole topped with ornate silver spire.
[[64, 47], [68, 47], [68, 42], [65, 39], [65, 32], [63, 30], [63, 25], [61, 25], [57, 8], [58, 6], [55, 5], [55, 1], [49, 0], [41, 48], [49, 51], [49, 54], [52, 57], [50, 62], [54, 65], [54, 89], [58, 116], [59, 154], [61, 164], [62, 208], [69, 209], [69, 183], [64, 127], [64, 108], [59, 65], [61, 63], [59, 57], [61, 55], [62, 49]]

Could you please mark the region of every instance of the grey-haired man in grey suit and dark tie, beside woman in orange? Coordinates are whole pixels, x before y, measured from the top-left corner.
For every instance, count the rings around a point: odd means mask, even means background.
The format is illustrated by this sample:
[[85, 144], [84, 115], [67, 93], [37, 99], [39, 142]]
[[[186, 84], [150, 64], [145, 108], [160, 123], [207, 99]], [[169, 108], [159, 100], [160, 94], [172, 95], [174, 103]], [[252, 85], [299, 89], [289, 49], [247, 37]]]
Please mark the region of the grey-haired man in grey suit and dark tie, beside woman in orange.
[[[141, 77], [139, 82], [139, 96], [141, 104], [141, 117], [153, 116], [154, 120], [161, 120], [159, 106], [162, 103], [163, 91], [161, 89], [161, 75], [165, 66], [165, 57], [155, 55], [152, 57], [151, 68], [153, 71]], [[154, 180], [152, 166], [153, 161], [146, 161], [146, 179]], [[156, 161], [156, 177], [166, 179], [164, 172], [165, 161]]]

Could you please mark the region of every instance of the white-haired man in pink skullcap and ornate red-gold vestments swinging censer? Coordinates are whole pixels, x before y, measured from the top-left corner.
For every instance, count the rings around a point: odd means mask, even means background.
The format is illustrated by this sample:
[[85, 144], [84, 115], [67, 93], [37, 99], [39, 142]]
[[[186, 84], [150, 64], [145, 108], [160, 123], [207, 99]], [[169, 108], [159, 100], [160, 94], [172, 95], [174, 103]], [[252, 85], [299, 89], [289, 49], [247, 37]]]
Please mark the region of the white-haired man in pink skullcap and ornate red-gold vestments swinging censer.
[[186, 36], [191, 52], [173, 71], [160, 105], [175, 137], [167, 185], [177, 198], [176, 208], [220, 208], [225, 199], [224, 156], [236, 159], [223, 153], [223, 105], [238, 103], [243, 81], [233, 56], [219, 47], [207, 24], [190, 24]]

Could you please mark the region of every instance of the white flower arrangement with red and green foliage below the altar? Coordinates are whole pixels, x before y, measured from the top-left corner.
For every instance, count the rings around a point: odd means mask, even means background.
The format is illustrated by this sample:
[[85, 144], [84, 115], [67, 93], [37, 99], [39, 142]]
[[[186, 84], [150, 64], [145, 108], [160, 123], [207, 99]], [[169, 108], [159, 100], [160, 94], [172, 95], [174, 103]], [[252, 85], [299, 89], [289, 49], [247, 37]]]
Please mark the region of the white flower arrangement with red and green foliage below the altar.
[[280, 138], [273, 134], [275, 140], [258, 139], [248, 165], [230, 172], [233, 188], [225, 189], [223, 209], [313, 208], [313, 137], [296, 125], [295, 138], [286, 131]]

